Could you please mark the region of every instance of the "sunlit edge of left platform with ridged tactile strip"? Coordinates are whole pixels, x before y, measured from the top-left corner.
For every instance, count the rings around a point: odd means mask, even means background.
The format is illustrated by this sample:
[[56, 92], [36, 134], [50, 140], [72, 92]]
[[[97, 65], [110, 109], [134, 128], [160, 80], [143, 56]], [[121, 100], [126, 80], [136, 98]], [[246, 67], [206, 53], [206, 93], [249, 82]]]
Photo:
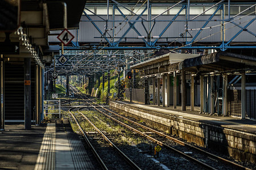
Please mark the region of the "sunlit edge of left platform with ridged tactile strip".
[[35, 169], [94, 169], [75, 133], [47, 124]]

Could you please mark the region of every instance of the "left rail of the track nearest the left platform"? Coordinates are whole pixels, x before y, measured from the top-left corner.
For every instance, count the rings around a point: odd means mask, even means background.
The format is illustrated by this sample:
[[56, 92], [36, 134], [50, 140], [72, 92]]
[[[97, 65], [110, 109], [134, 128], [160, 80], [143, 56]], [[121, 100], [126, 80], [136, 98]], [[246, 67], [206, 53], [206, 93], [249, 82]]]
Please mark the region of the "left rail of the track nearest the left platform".
[[69, 114], [71, 114], [73, 120], [75, 120], [77, 127], [79, 128], [80, 132], [82, 133], [82, 136], [85, 139], [85, 142], [87, 143], [87, 145], [90, 147], [90, 149], [93, 152], [93, 155], [96, 157], [98, 163], [100, 163], [102, 169], [106, 169], [108, 170], [108, 168], [106, 167], [105, 163], [103, 162], [103, 160], [100, 158], [100, 155], [98, 155], [97, 151], [95, 150], [95, 148], [92, 146], [92, 143], [90, 143], [89, 139], [87, 138], [86, 134], [84, 133], [84, 130], [82, 130], [81, 126], [79, 125], [79, 122], [76, 120], [76, 117], [71, 113], [71, 110], [74, 108], [70, 108]]

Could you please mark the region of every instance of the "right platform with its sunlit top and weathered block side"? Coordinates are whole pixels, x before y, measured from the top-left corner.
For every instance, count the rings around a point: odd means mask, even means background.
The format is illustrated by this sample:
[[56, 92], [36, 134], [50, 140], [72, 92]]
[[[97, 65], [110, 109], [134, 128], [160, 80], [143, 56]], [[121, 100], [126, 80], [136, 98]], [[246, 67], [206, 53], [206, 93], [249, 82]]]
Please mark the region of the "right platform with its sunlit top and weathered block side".
[[195, 111], [181, 111], [181, 107], [144, 105], [129, 101], [110, 101], [110, 108], [134, 117], [156, 129], [212, 148], [236, 160], [256, 163], [256, 121], [239, 117], [217, 116]]

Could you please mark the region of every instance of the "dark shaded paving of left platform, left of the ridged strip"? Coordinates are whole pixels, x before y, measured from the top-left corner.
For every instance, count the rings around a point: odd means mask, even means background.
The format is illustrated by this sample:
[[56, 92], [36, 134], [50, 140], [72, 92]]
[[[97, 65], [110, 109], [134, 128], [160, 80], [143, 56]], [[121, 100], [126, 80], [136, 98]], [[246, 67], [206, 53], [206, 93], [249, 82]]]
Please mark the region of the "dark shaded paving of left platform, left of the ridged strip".
[[0, 131], [0, 169], [34, 169], [46, 126], [6, 125]]

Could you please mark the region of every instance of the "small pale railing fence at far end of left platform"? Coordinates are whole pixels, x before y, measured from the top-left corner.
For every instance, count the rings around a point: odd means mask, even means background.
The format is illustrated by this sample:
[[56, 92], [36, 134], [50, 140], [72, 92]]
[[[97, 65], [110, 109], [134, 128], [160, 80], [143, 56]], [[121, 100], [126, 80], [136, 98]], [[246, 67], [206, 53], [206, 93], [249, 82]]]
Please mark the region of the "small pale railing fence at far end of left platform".
[[60, 118], [60, 100], [44, 100], [44, 114], [59, 114]]

